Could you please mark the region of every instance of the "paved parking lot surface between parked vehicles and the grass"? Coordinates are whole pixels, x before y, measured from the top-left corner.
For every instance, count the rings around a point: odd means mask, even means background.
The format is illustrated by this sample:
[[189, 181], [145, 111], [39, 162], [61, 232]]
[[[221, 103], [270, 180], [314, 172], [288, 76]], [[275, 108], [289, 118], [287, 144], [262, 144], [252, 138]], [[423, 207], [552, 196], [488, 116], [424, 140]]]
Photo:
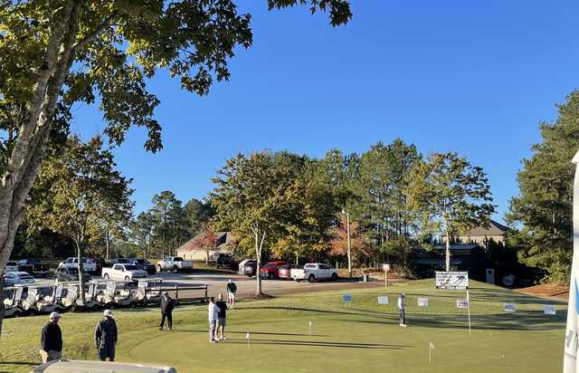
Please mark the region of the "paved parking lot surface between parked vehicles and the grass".
[[[193, 273], [157, 273], [153, 277], [162, 278], [169, 283], [204, 283], [209, 285], [209, 295], [216, 296], [219, 292], [225, 292], [225, 285], [229, 279], [237, 284], [237, 292], [240, 298], [254, 294], [256, 289], [255, 277], [242, 276], [237, 273], [224, 270], [194, 270]], [[101, 280], [100, 276], [93, 276], [93, 280]], [[37, 279], [37, 283], [52, 284], [52, 277]], [[261, 291], [269, 295], [279, 296], [296, 292], [318, 292], [341, 289], [358, 289], [362, 287], [383, 286], [384, 282], [371, 281], [359, 282], [359, 279], [338, 279], [326, 282], [295, 282], [289, 280], [262, 280]]]

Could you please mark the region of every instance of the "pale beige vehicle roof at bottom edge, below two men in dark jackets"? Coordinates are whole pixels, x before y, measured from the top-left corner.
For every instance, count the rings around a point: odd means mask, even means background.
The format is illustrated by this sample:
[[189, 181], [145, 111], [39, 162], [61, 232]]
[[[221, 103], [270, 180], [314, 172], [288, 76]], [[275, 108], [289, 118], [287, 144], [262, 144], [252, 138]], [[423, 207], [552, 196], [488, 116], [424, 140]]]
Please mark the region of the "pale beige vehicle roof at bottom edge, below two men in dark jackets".
[[176, 368], [92, 360], [52, 360], [31, 370], [31, 373], [48, 372], [119, 372], [119, 373], [176, 373]]

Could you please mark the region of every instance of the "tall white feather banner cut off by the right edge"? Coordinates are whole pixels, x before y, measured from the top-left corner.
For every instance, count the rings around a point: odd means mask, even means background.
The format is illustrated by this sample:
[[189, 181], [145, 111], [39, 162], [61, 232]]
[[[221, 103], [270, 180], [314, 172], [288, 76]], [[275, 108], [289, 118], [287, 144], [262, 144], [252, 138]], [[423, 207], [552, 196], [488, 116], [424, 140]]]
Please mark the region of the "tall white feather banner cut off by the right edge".
[[565, 330], [564, 373], [579, 373], [577, 364], [577, 276], [579, 275], [579, 151], [573, 158], [575, 177], [573, 184], [573, 264], [571, 265], [571, 283], [569, 284], [569, 304], [567, 305], [567, 328]]

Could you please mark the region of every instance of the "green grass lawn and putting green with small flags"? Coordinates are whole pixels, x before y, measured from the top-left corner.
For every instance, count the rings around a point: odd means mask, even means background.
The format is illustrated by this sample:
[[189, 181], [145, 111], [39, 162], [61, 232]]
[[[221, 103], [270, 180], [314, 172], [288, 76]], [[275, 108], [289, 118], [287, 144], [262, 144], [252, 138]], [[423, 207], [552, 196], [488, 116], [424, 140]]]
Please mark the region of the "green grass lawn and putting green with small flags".
[[[464, 292], [436, 291], [433, 280], [381, 289], [310, 292], [271, 301], [242, 302], [228, 314], [229, 340], [209, 344], [205, 306], [176, 309], [173, 332], [157, 330], [158, 310], [115, 311], [119, 361], [162, 363], [184, 372], [555, 372], [562, 367], [565, 303], [471, 282], [472, 333], [466, 311], [456, 309]], [[382, 289], [383, 290], [383, 289]], [[395, 301], [406, 293], [409, 328], [398, 326]], [[420, 310], [417, 296], [430, 297]], [[517, 312], [503, 311], [503, 302]], [[556, 316], [543, 314], [556, 304]], [[64, 357], [96, 359], [92, 332], [97, 313], [64, 314]], [[311, 335], [308, 322], [312, 322]], [[45, 317], [5, 320], [0, 372], [27, 372], [37, 363]], [[248, 347], [246, 333], [251, 332]], [[429, 341], [434, 344], [428, 361]]]

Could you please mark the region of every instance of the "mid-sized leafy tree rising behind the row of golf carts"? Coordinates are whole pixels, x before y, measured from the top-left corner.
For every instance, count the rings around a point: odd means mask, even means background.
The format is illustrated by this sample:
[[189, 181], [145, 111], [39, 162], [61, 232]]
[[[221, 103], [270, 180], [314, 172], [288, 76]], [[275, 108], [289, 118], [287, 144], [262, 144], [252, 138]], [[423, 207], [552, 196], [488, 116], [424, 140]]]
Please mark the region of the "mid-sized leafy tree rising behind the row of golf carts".
[[[27, 206], [29, 224], [65, 234], [75, 244], [79, 258], [81, 290], [84, 289], [81, 258], [91, 234], [110, 220], [127, 226], [132, 215], [130, 179], [118, 170], [112, 153], [102, 149], [100, 138], [82, 143], [73, 137], [62, 154], [49, 157], [31, 192]], [[81, 291], [84, 304], [84, 292]]]

